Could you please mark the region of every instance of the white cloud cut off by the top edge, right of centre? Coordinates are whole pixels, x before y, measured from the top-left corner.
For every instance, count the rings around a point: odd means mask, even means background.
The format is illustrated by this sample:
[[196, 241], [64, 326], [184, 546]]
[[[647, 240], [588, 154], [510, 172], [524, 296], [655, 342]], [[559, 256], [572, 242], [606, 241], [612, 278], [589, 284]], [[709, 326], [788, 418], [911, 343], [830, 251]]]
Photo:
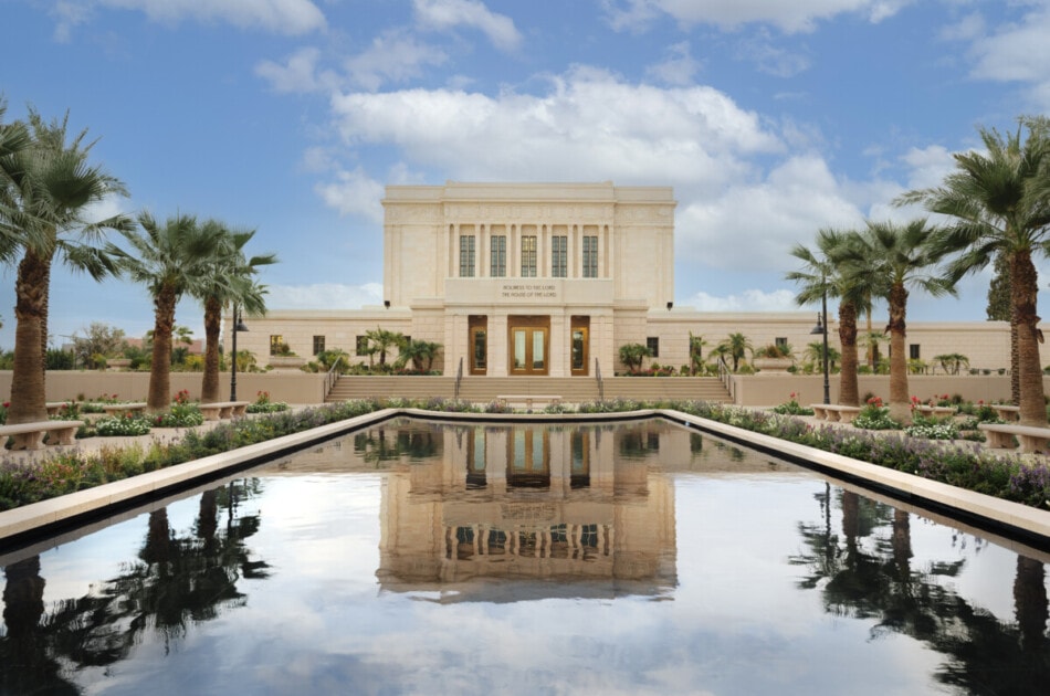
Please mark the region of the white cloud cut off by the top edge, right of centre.
[[736, 29], [744, 24], [770, 24], [785, 33], [809, 32], [818, 21], [842, 13], [858, 13], [871, 22], [881, 22], [896, 14], [913, 0], [606, 0], [603, 6], [617, 30], [637, 29], [640, 23], [660, 14], [678, 22], [715, 24]]

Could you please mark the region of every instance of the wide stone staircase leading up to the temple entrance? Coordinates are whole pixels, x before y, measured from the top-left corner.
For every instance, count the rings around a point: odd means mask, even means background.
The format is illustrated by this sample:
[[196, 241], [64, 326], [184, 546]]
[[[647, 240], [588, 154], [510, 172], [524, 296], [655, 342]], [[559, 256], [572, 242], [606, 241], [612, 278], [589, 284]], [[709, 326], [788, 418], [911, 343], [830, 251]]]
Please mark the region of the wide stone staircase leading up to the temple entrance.
[[[371, 397], [451, 399], [454, 392], [454, 377], [344, 376], [325, 401]], [[592, 377], [464, 377], [460, 382], [460, 399], [465, 401], [487, 403], [500, 394], [556, 394], [566, 403], [581, 403], [598, 399], [598, 382]], [[605, 398], [732, 402], [717, 377], [613, 377], [605, 380]]]

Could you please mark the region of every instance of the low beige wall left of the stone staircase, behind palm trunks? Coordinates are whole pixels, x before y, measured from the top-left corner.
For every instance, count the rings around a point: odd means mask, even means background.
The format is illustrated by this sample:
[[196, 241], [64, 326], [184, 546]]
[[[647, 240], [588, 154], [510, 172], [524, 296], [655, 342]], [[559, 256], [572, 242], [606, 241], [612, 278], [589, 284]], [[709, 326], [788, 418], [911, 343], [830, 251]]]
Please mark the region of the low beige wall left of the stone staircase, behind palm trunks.
[[[200, 372], [171, 372], [171, 394], [186, 389], [190, 399], [200, 399]], [[219, 373], [219, 394], [230, 396], [230, 373]], [[149, 391], [149, 372], [101, 372], [96, 370], [49, 370], [46, 381], [48, 401], [66, 401], [83, 397], [96, 399], [102, 394], [126, 401], [145, 401]], [[237, 397], [241, 401], [254, 401], [260, 391], [270, 392], [273, 401], [292, 404], [323, 403], [325, 376], [298, 370], [272, 372], [238, 372]], [[11, 371], [0, 370], [0, 396], [11, 399]]]

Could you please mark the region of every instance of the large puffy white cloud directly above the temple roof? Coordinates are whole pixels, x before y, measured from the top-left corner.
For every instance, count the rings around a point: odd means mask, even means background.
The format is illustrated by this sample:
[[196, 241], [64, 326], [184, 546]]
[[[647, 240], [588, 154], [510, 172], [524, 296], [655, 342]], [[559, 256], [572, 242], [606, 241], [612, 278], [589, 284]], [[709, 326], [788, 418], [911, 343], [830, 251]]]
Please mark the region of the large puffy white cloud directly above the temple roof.
[[660, 89], [578, 67], [546, 94], [407, 89], [336, 96], [346, 144], [388, 145], [460, 180], [617, 180], [721, 187], [783, 146], [706, 86]]

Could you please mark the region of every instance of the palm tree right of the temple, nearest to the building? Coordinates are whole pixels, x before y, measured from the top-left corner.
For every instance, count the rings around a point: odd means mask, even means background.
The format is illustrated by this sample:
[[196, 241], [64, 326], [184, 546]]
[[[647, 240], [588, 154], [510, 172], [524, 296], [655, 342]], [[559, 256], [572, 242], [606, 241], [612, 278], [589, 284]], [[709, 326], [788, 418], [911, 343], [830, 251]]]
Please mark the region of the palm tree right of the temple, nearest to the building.
[[[849, 256], [855, 257], [859, 252], [848, 247], [859, 244], [860, 236], [857, 232], [840, 232], [830, 228], [818, 230], [818, 253], [796, 244], [791, 249], [791, 255], [805, 266], [785, 276], [788, 281], [801, 285], [795, 296], [799, 305], [813, 304], [822, 300], [826, 295], [840, 298], [839, 342], [842, 347], [842, 369], [839, 372], [839, 403], [852, 407], [860, 405], [860, 389], [857, 382], [857, 314], [858, 307], [864, 306], [865, 300], [870, 304], [871, 289], [865, 285], [864, 276], [854, 272], [854, 265], [849, 263]], [[828, 317], [823, 320], [827, 321]], [[829, 355], [828, 360], [830, 359]], [[819, 360], [823, 360], [822, 345]]]

